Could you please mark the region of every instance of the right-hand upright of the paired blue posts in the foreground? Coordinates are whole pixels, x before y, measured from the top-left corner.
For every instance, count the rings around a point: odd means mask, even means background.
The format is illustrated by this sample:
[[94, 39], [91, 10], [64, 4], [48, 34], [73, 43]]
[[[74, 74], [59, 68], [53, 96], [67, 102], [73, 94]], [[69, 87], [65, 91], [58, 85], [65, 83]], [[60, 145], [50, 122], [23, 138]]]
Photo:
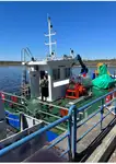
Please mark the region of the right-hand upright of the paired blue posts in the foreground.
[[73, 108], [72, 117], [72, 157], [74, 160], [77, 154], [77, 107]]

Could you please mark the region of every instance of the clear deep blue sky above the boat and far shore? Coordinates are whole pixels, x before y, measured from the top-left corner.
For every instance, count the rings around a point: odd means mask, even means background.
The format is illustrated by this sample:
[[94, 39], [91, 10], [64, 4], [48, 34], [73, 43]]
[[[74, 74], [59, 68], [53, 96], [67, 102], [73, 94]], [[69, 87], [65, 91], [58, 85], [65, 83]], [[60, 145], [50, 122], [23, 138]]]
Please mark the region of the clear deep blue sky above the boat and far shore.
[[28, 47], [36, 58], [48, 52], [47, 13], [57, 35], [57, 57], [70, 48], [83, 58], [116, 57], [116, 2], [0, 2], [0, 60], [21, 60]]

